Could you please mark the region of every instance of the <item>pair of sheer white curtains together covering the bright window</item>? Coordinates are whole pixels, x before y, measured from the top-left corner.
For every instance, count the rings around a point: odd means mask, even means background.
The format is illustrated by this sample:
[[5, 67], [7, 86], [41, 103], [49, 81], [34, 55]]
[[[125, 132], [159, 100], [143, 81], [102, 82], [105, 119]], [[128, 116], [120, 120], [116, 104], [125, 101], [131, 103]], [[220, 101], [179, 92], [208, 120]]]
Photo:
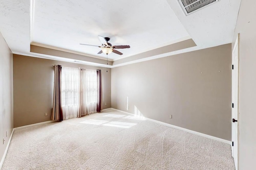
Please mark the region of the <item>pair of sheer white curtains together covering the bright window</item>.
[[97, 70], [62, 67], [63, 119], [97, 112]]

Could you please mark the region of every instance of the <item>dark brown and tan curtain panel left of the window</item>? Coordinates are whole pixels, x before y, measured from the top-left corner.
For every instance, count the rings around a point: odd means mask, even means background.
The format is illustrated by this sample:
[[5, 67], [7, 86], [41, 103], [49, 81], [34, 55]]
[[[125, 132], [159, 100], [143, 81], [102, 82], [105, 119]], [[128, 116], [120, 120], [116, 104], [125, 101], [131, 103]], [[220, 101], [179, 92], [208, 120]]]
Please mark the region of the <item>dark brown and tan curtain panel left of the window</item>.
[[61, 65], [54, 65], [54, 90], [51, 120], [63, 121], [61, 107]]

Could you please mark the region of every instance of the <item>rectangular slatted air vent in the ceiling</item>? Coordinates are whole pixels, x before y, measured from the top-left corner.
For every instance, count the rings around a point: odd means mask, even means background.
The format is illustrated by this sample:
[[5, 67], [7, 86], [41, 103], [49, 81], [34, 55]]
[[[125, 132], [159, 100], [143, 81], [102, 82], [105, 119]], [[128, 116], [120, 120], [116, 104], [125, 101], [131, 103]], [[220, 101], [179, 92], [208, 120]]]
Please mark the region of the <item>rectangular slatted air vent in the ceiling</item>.
[[178, 0], [186, 15], [192, 14], [206, 6], [212, 5], [219, 0]]

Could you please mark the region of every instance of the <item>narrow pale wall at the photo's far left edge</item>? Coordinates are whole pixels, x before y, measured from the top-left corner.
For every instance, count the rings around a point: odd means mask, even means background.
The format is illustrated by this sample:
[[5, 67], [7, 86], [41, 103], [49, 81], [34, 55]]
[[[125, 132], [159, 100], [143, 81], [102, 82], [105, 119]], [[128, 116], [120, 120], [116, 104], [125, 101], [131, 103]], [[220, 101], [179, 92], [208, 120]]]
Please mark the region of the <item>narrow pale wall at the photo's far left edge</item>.
[[[13, 129], [12, 52], [0, 33], [0, 161]], [[6, 137], [7, 132], [7, 137]], [[4, 144], [2, 143], [4, 141]], [[0, 162], [0, 168], [1, 168]]]

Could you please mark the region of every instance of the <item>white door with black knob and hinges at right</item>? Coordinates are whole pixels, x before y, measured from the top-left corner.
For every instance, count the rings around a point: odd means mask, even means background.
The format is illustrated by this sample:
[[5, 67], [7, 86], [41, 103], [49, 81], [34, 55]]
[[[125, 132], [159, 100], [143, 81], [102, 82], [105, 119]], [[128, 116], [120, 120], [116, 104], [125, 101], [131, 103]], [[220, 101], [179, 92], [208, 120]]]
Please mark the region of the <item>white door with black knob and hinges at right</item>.
[[232, 156], [234, 158], [236, 170], [238, 169], [238, 49], [239, 34], [232, 52]]

